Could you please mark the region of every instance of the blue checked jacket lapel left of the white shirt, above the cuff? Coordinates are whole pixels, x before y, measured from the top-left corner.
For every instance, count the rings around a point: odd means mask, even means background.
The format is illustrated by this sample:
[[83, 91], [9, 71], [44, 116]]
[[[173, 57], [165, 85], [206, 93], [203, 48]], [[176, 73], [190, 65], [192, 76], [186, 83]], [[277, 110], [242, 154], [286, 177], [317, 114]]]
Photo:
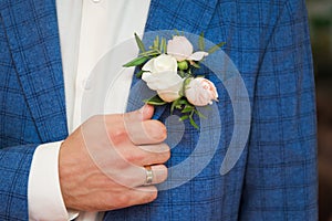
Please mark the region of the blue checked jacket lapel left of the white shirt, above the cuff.
[[41, 141], [63, 139], [68, 129], [55, 1], [20, 1], [6, 10], [12, 59]]

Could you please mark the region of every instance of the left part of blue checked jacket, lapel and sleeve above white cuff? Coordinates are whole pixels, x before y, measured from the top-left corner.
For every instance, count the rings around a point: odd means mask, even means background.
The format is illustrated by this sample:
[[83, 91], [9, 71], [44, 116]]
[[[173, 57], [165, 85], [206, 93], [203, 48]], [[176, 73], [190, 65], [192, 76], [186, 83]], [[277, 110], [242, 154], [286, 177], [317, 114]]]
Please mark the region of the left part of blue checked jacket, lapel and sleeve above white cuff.
[[0, 2], [0, 220], [28, 220], [35, 147], [68, 136], [54, 1]]

